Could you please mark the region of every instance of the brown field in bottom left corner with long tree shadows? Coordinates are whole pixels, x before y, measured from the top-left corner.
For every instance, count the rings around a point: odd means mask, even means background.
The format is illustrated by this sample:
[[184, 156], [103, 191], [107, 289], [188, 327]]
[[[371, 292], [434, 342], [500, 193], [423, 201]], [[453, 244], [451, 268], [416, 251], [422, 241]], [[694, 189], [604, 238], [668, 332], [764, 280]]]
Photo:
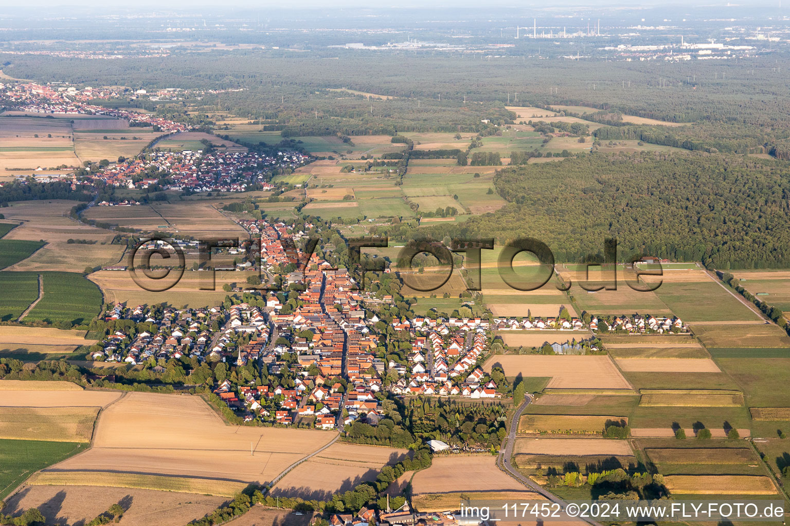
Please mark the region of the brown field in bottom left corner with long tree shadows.
[[[117, 503], [122, 526], [172, 526], [212, 513], [224, 497], [96, 486], [25, 486], [7, 501], [4, 513], [38, 508], [47, 524], [86, 524]], [[262, 523], [261, 523], [262, 524]], [[273, 523], [272, 523], [273, 524]]]

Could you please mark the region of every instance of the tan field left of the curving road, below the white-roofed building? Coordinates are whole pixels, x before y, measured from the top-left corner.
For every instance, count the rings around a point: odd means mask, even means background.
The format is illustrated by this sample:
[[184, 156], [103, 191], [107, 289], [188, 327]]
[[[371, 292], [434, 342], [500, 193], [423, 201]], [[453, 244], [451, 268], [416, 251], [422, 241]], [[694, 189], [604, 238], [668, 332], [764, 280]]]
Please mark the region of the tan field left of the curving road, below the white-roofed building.
[[[460, 474], [463, 473], [463, 476]], [[413, 494], [457, 491], [524, 491], [525, 487], [496, 466], [496, 457], [434, 457], [430, 468], [414, 474]]]

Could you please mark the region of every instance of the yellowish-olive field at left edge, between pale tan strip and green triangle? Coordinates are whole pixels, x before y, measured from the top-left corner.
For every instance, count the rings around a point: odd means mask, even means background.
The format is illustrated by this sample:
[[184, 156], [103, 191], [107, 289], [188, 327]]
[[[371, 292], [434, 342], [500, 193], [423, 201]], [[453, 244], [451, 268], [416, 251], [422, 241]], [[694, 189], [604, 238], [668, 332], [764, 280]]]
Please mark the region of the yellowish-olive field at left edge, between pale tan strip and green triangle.
[[0, 438], [90, 442], [98, 412], [99, 408], [96, 407], [0, 407]]

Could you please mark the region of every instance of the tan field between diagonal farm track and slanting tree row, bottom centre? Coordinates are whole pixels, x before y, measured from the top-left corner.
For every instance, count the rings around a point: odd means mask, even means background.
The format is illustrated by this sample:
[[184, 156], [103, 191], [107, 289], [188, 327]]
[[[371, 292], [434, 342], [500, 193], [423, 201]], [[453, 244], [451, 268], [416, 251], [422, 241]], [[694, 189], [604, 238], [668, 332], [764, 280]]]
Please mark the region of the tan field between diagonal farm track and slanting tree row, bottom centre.
[[325, 500], [375, 480], [385, 465], [403, 460], [406, 450], [336, 442], [299, 464], [272, 488], [273, 495]]

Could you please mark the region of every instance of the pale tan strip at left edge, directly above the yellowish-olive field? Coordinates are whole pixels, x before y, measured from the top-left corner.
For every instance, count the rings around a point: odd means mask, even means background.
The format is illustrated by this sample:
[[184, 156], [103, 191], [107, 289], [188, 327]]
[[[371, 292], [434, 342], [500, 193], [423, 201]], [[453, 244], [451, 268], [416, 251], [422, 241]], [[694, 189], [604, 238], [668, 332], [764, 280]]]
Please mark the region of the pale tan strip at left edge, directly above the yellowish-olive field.
[[[112, 391], [85, 391], [79, 390], [46, 390], [53, 387], [28, 386], [28, 390], [5, 390], [4, 382], [13, 380], [0, 380], [0, 407], [14, 408], [75, 408], [75, 407], [104, 407], [118, 400], [120, 393]], [[24, 382], [36, 383], [36, 382]], [[40, 382], [42, 384], [69, 384], [68, 382]], [[77, 386], [79, 387], [79, 386]], [[54, 387], [57, 389], [57, 386]]]

